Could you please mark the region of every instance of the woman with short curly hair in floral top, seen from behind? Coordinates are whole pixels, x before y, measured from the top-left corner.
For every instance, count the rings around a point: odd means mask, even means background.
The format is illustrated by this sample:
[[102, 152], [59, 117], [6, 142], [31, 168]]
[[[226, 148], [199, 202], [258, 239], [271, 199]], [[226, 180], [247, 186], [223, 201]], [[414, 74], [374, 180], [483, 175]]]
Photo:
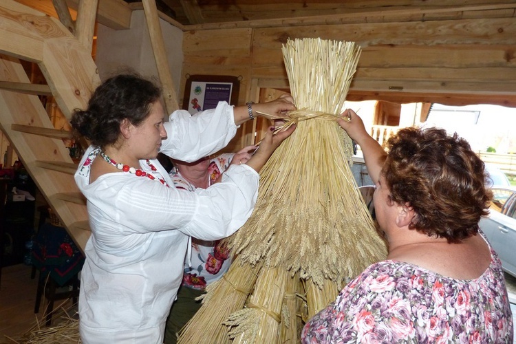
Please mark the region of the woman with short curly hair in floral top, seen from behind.
[[400, 129], [388, 154], [361, 118], [338, 124], [360, 144], [389, 244], [303, 329], [303, 343], [512, 343], [502, 266], [478, 228], [491, 191], [468, 142], [443, 129]]

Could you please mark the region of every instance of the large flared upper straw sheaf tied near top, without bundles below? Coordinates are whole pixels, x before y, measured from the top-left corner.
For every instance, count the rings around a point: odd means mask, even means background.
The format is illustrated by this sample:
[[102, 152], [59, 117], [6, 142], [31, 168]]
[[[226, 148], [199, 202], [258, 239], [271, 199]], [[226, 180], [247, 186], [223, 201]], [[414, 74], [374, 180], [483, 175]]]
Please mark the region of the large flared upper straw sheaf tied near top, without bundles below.
[[340, 283], [387, 255], [357, 191], [352, 141], [336, 118], [345, 109], [360, 49], [352, 42], [303, 39], [283, 46], [297, 129], [261, 170], [255, 211], [228, 245], [303, 279]]

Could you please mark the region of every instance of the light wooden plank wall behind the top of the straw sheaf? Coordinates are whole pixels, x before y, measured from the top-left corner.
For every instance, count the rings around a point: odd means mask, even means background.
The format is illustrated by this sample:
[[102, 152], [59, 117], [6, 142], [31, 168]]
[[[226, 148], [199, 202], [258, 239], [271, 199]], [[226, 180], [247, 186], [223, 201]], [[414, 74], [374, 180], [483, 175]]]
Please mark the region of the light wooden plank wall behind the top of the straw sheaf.
[[363, 50], [350, 100], [412, 103], [424, 98], [449, 105], [516, 107], [514, 9], [465, 13], [449, 12], [462, 18], [458, 20], [440, 13], [433, 21], [398, 16], [394, 22], [187, 31], [184, 72], [242, 72], [246, 80], [257, 79], [259, 87], [284, 87], [288, 81], [281, 46], [288, 39], [356, 41]]

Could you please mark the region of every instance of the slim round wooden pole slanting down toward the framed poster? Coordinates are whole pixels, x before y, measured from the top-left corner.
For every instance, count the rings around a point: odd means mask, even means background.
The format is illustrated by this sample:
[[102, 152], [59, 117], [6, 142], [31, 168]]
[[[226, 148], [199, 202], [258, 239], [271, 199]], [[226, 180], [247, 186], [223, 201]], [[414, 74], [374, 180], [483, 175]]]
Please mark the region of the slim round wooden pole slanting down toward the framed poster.
[[178, 98], [174, 89], [172, 74], [170, 72], [169, 61], [166, 58], [166, 51], [163, 42], [163, 34], [160, 26], [160, 18], [158, 17], [158, 9], [155, 0], [142, 0], [147, 27], [151, 36], [151, 45], [154, 52], [158, 75], [160, 76], [163, 88], [163, 98], [167, 114], [179, 108]]

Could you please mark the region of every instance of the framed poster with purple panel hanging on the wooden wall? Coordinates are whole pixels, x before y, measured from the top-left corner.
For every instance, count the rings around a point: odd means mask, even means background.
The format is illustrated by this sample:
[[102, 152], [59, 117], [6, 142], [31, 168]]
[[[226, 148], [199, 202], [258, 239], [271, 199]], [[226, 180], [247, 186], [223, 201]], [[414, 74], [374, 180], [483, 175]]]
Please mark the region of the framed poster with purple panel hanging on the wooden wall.
[[240, 77], [226, 75], [187, 75], [183, 109], [190, 114], [215, 109], [219, 101], [237, 105]]

